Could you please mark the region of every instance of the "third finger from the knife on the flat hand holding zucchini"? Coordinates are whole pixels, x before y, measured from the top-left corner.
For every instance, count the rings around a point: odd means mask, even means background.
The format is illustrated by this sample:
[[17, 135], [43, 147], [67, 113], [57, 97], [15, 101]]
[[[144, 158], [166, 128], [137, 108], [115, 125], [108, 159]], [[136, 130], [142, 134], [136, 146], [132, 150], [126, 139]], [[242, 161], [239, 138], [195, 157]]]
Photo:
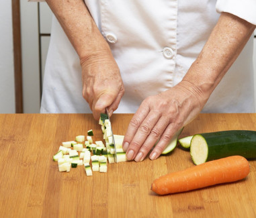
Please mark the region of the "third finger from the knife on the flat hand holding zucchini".
[[142, 161], [146, 158], [146, 155], [157, 143], [157, 140], [159, 140], [168, 125], [169, 119], [166, 117], [160, 117], [159, 121], [157, 121], [157, 124], [153, 127], [151, 133], [146, 138], [144, 144], [140, 147], [140, 150], [134, 159], [136, 162]]

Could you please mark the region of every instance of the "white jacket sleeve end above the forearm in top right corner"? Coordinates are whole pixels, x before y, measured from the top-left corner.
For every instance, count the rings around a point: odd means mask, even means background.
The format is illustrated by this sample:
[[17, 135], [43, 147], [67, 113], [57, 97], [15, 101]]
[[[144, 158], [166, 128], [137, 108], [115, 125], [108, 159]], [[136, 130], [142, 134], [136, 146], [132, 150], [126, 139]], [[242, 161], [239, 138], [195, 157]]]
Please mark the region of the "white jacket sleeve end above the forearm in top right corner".
[[217, 0], [216, 11], [227, 12], [256, 25], [255, 0]]

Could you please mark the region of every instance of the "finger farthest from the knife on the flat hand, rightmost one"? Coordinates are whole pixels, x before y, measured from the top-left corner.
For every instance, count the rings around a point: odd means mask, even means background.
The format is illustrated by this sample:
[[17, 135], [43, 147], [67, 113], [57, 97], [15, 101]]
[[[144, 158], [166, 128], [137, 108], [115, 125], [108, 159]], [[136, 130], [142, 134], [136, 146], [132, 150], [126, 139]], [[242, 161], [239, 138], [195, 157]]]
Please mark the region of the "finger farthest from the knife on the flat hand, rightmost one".
[[151, 160], [157, 159], [162, 154], [163, 150], [165, 150], [166, 146], [169, 144], [169, 142], [173, 138], [173, 135], [175, 135], [175, 133], [178, 130], [179, 130], [179, 128], [177, 127], [176, 123], [170, 123], [167, 126], [167, 128], [161, 135], [159, 142], [157, 143], [157, 145], [151, 152], [151, 155], [149, 156], [149, 158], [151, 158]]

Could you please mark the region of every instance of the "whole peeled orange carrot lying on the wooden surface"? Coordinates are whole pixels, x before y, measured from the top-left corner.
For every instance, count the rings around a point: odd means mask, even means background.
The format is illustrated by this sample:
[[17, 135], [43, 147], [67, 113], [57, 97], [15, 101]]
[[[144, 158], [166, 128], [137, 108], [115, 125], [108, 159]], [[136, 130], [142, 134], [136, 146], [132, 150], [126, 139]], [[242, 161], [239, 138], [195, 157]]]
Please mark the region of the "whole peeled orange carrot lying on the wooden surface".
[[159, 195], [181, 193], [241, 180], [249, 174], [249, 170], [249, 162], [245, 158], [230, 156], [161, 176], [153, 182], [151, 190]]

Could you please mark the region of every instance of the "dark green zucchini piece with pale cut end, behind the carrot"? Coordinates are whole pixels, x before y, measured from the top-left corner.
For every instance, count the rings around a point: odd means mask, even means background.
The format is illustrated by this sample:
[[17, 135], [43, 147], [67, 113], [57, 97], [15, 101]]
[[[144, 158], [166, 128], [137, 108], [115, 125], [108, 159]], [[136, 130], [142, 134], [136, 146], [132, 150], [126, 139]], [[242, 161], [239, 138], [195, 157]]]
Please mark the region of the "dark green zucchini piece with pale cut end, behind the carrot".
[[256, 158], [256, 131], [230, 130], [201, 133], [193, 136], [190, 154], [194, 164], [228, 156]]

